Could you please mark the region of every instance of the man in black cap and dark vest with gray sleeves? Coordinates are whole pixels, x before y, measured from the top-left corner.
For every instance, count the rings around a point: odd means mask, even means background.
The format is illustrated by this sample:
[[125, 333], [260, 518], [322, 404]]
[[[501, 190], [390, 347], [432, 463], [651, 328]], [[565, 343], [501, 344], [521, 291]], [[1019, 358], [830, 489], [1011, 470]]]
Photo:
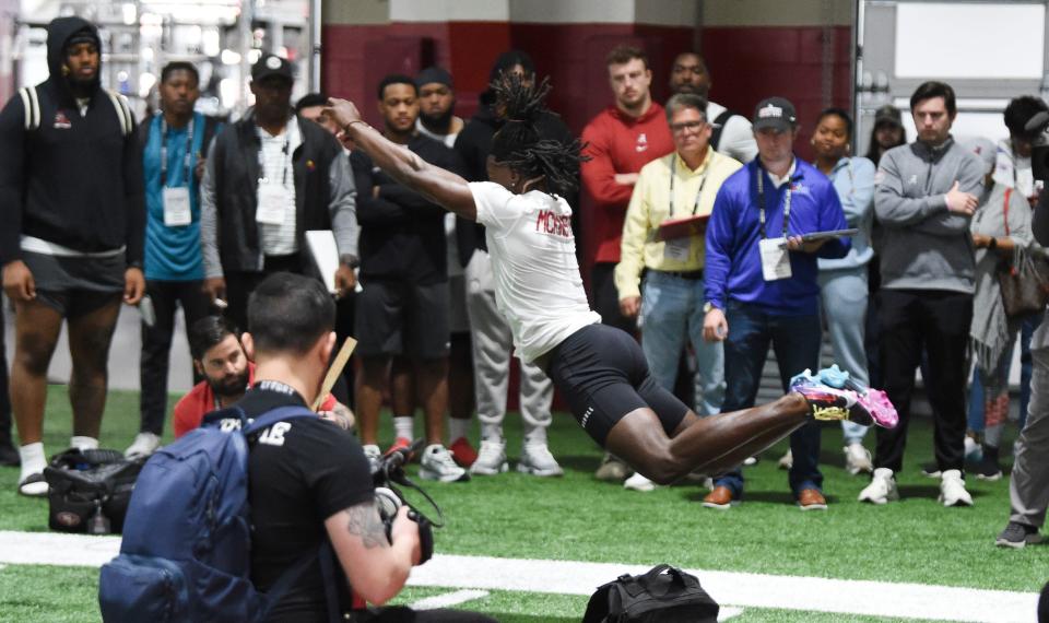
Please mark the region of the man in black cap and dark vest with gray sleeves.
[[[251, 67], [255, 108], [226, 127], [208, 156], [200, 190], [204, 290], [247, 324], [248, 296], [268, 274], [306, 273], [306, 232], [331, 230], [339, 249], [335, 295], [353, 291], [355, 191], [342, 146], [294, 114], [292, 64], [266, 54]], [[327, 275], [326, 275], [327, 277]]]

